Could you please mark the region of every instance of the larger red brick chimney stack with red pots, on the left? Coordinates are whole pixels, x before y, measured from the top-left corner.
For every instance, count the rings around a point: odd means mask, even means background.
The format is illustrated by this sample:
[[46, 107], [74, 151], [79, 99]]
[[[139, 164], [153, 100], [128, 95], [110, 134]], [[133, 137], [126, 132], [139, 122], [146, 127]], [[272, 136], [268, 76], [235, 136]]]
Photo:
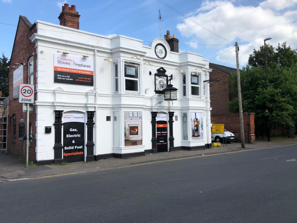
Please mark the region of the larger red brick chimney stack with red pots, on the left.
[[59, 15], [60, 25], [73, 29], [79, 29], [79, 17], [75, 5], [69, 7], [69, 4], [62, 6], [62, 12]]

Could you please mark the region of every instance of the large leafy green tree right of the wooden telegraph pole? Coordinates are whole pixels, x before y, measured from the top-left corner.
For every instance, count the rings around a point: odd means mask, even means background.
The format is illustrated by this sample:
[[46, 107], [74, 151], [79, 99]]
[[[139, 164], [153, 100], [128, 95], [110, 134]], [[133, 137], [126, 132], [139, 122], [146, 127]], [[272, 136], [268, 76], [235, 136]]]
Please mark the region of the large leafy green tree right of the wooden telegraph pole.
[[[266, 46], [267, 84], [265, 83], [264, 46], [253, 51], [249, 63], [240, 72], [242, 106], [244, 112], [255, 112], [255, 125], [264, 134], [264, 123], [269, 115], [274, 123], [293, 126], [297, 120], [297, 53], [286, 43], [274, 49]], [[237, 95], [237, 77], [231, 93]], [[230, 112], [238, 112], [238, 98], [230, 101]], [[269, 114], [266, 111], [268, 110]]]

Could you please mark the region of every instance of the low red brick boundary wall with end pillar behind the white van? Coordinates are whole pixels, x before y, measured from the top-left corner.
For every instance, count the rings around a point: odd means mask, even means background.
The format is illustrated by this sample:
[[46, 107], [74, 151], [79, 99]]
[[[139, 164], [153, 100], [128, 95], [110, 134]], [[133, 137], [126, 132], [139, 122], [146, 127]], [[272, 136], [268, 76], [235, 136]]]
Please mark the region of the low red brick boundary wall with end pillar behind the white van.
[[[249, 142], [255, 141], [255, 113], [249, 112], [243, 114], [243, 124], [244, 124], [244, 141]], [[225, 114], [225, 115], [212, 115], [212, 123], [225, 124], [225, 129], [229, 132], [232, 132], [237, 136], [237, 140], [240, 141], [240, 122], [239, 122], [239, 113], [236, 114]]]

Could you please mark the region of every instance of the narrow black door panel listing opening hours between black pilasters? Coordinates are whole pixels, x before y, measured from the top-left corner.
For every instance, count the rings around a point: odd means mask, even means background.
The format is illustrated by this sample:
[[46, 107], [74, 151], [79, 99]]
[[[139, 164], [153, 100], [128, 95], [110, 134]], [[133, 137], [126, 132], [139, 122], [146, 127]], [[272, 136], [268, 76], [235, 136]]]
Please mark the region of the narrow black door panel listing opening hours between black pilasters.
[[167, 140], [167, 114], [157, 114], [157, 150], [159, 152], [168, 151]]

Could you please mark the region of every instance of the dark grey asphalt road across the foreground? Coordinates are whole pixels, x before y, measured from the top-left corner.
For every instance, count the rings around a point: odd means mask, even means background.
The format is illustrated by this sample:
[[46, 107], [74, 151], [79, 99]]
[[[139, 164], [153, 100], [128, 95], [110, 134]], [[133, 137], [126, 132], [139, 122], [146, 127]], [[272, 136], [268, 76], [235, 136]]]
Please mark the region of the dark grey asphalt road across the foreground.
[[0, 183], [0, 222], [297, 222], [297, 147]]

